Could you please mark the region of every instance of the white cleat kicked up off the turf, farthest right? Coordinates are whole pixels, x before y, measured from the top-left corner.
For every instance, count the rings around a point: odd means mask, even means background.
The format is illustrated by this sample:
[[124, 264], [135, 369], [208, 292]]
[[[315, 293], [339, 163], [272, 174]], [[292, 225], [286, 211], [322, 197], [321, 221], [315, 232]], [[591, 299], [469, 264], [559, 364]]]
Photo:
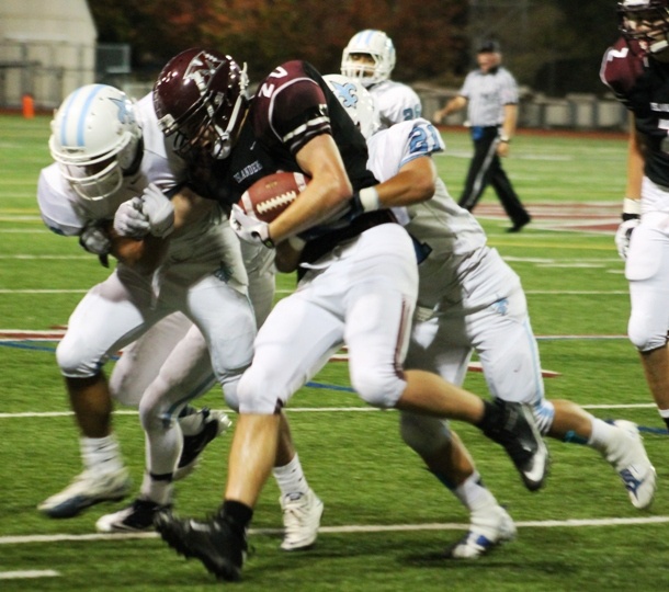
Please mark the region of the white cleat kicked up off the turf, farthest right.
[[613, 425], [620, 433], [604, 457], [623, 480], [632, 505], [645, 510], [655, 497], [655, 467], [646, 454], [637, 425], [625, 420], [616, 420]]

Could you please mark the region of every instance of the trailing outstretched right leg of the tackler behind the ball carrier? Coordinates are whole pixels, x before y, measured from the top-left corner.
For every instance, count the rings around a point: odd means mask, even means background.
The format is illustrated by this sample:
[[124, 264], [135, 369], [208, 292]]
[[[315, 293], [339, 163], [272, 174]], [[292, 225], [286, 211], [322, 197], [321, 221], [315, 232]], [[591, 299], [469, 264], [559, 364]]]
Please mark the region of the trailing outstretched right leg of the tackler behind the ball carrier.
[[[621, 476], [637, 508], [650, 504], [655, 471], [638, 433], [625, 422], [609, 424], [569, 400], [546, 400], [540, 351], [530, 325], [518, 275], [496, 251], [488, 251], [472, 284], [484, 294], [496, 286], [502, 296], [492, 305], [466, 315], [467, 334], [479, 355], [492, 397], [530, 405], [544, 435], [597, 449]], [[487, 276], [487, 281], [486, 281]], [[476, 292], [469, 291], [476, 298]]]

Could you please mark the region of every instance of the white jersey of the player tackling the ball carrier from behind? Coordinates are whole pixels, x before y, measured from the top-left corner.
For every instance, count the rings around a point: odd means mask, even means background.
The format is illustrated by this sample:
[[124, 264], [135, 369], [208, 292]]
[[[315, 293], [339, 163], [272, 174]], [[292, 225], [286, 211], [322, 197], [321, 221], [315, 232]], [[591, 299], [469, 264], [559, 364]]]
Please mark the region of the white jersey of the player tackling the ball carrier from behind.
[[[367, 146], [367, 168], [382, 182], [396, 175], [412, 159], [445, 149], [441, 135], [426, 119], [402, 122], [383, 129], [368, 139]], [[473, 301], [467, 294], [479, 287], [476, 267], [487, 249], [486, 234], [476, 218], [455, 203], [443, 181], [436, 180], [431, 200], [394, 210], [417, 248], [429, 251], [418, 266], [419, 305], [429, 308], [453, 304], [467, 308], [481, 306], [484, 303]], [[463, 286], [465, 276], [467, 285]], [[487, 284], [488, 278], [480, 274], [480, 281]], [[495, 295], [503, 286], [486, 287], [489, 289], [477, 289], [476, 294], [486, 295], [487, 300], [487, 295]]]

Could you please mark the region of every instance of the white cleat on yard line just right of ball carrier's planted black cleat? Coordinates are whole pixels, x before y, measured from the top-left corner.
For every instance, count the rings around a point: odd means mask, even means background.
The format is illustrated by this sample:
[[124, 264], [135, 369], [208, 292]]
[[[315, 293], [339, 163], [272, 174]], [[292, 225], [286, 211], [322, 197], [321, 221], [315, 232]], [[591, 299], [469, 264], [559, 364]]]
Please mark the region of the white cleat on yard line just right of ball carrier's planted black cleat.
[[311, 489], [307, 493], [282, 496], [279, 499], [283, 510], [283, 550], [306, 549], [314, 545], [318, 536], [322, 502]]

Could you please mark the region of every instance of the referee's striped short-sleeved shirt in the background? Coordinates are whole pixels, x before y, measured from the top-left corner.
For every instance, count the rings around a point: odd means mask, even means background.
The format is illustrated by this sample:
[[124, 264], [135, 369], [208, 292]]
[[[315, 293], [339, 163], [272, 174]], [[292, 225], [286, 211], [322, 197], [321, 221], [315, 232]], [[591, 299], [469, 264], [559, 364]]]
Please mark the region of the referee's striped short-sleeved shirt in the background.
[[504, 121], [503, 106], [518, 103], [515, 79], [501, 66], [484, 73], [467, 75], [460, 94], [467, 99], [467, 118], [472, 126], [491, 127]]

